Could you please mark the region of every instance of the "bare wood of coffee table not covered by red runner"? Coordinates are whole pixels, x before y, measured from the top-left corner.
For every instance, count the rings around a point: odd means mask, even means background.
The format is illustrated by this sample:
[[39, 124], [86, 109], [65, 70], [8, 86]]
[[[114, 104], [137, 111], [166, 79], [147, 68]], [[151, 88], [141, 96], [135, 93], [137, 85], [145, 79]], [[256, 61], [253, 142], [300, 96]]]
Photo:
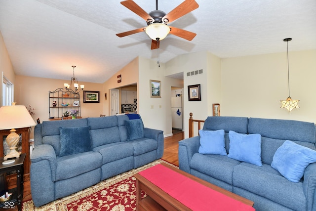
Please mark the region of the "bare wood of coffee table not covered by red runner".
[[[186, 177], [189, 177], [190, 179], [208, 187], [211, 188], [217, 192], [220, 192], [227, 197], [233, 198], [245, 205], [248, 205], [250, 207], [253, 206], [253, 202], [245, 199], [241, 196], [238, 196], [237, 194], [234, 194], [228, 190], [225, 190], [223, 188], [220, 188], [216, 185], [213, 185], [209, 182], [206, 182], [196, 176], [193, 176], [185, 171], [176, 169], [170, 165], [161, 163], [164, 167], [167, 167], [169, 169], [172, 169], [173, 171], [176, 171], [182, 175], [185, 175]], [[151, 181], [146, 179], [144, 176], [140, 175], [140, 173], [136, 173], [134, 175], [136, 178], [136, 210], [137, 211], [191, 211], [188, 207], [183, 205], [181, 202], [176, 200], [175, 198], [171, 197], [169, 194], [164, 192], [162, 189], [160, 189], [158, 186], [153, 184]], [[141, 197], [141, 190], [145, 191], [147, 196], [142, 199]], [[225, 203], [225, 202], [219, 202], [219, 203]]]

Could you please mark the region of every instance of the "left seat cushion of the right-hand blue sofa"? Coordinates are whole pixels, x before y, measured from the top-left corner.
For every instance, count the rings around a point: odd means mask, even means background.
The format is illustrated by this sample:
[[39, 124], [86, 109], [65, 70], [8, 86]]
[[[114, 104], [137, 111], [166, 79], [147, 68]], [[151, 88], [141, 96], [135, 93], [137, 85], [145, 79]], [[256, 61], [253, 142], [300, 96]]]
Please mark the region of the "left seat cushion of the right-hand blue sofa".
[[189, 165], [192, 169], [232, 185], [233, 170], [238, 164], [240, 164], [239, 161], [228, 158], [227, 156], [195, 153]]

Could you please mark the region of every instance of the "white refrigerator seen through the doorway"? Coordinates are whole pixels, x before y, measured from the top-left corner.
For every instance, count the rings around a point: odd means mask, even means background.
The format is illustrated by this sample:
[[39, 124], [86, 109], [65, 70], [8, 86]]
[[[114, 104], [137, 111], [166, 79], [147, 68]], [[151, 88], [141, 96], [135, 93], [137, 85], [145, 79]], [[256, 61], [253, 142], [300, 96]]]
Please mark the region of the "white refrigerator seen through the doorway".
[[172, 128], [182, 129], [182, 97], [171, 97]]

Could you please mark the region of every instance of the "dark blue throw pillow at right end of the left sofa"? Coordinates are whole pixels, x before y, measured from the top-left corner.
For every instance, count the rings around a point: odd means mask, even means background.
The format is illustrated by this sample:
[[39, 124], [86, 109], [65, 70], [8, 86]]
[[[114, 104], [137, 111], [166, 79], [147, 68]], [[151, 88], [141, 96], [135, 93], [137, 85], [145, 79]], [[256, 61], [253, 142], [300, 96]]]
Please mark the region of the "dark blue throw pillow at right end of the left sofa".
[[127, 141], [144, 138], [144, 125], [141, 119], [125, 120]]

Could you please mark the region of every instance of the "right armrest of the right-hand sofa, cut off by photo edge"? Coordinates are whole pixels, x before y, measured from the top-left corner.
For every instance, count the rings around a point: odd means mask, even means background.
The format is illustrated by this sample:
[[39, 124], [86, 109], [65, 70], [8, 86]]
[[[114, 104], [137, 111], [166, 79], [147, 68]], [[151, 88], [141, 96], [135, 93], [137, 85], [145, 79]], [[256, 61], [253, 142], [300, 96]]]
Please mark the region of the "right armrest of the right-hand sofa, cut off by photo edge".
[[316, 163], [307, 166], [304, 172], [303, 191], [307, 201], [307, 210], [316, 209]]

